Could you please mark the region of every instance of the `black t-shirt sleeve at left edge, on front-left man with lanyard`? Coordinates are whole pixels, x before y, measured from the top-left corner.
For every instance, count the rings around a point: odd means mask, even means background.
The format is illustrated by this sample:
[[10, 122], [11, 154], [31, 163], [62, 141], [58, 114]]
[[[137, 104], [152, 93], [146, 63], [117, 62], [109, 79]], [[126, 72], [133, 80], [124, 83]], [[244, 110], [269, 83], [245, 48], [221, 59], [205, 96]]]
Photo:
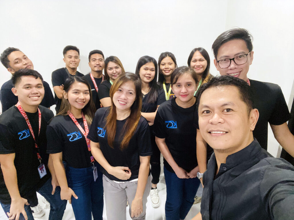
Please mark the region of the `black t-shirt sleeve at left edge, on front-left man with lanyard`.
[[15, 153], [16, 136], [7, 126], [0, 124], [0, 154]]

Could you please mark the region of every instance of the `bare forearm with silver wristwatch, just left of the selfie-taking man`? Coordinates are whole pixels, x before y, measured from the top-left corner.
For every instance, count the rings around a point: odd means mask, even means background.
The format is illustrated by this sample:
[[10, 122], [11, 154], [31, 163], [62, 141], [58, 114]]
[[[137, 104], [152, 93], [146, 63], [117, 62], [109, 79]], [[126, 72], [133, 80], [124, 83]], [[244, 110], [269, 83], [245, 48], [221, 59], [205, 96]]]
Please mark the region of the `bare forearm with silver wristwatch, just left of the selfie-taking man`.
[[199, 172], [204, 173], [207, 169], [207, 143], [202, 138], [199, 130], [197, 129], [196, 136], [196, 153], [197, 153], [197, 162], [199, 166]]

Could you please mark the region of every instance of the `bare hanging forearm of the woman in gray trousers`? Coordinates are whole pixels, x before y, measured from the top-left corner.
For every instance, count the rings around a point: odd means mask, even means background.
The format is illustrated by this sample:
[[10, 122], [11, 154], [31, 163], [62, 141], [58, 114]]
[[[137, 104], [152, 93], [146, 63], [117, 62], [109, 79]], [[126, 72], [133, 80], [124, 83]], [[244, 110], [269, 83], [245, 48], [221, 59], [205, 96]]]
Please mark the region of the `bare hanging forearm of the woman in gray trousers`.
[[135, 194], [135, 198], [137, 199], [143, 199], [143, 194], [145, 191], [147, 179], [148, 179], [148, 174], [149, 174], [149, 169], [150, 169], [150, 156], [148, 156], [148, 161], [143, 161], [140, 164], [139, 168], [139, 175], [138, 175], [138, 185], [137, 185], [137, 190]]

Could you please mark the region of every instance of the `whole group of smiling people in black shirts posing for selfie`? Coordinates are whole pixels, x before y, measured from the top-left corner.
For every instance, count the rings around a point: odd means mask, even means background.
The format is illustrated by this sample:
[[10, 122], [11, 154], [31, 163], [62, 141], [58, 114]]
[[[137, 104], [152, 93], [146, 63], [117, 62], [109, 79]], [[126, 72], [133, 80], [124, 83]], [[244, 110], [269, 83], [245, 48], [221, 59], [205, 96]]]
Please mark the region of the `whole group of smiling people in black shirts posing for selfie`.
[[1, 62], [12, 74], [0, 92], [7, 217], [34, 219], [39, 192], [50, 203], [49, 219], [62, 219], [67, 200], [76, 219], [102, 219], [103, 195], [108, 220], [126, 219], [127, 201], [131, 218], [145, 219], [149, 195], [160, 205], [162, 154], [167, 220], [185, 219], [201, 183], [201, 213], [193, 219], [292, 219], [294, 167], [266, 151], [270, 123], [294, 156], [283, 93], [247, 78], [247, 30], [222, 33], [212, 49], [220, 77], [210, 74], [204, 48], [193, 49], [182, 67], [171, 52], [158, 62], [143, 56], [135, 73], [93, 50], [83, 75], [78, 48], [66, 46], [66, 67], [52, 72], [54, 98], [24, 53], [4, 50]]

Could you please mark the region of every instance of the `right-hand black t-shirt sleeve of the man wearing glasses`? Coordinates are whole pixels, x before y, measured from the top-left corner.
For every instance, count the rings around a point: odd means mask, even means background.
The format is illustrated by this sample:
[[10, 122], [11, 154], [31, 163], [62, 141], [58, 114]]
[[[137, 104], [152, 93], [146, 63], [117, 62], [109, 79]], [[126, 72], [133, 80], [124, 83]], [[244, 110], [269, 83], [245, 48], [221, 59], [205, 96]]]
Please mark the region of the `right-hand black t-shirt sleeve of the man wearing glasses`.
[[281, 125], [287, 122], [291, 117], [281, 87], [278, 86], [277, 90], [278, 96], [275, 100], [275, 108], [268, 120], [272, 125]]

